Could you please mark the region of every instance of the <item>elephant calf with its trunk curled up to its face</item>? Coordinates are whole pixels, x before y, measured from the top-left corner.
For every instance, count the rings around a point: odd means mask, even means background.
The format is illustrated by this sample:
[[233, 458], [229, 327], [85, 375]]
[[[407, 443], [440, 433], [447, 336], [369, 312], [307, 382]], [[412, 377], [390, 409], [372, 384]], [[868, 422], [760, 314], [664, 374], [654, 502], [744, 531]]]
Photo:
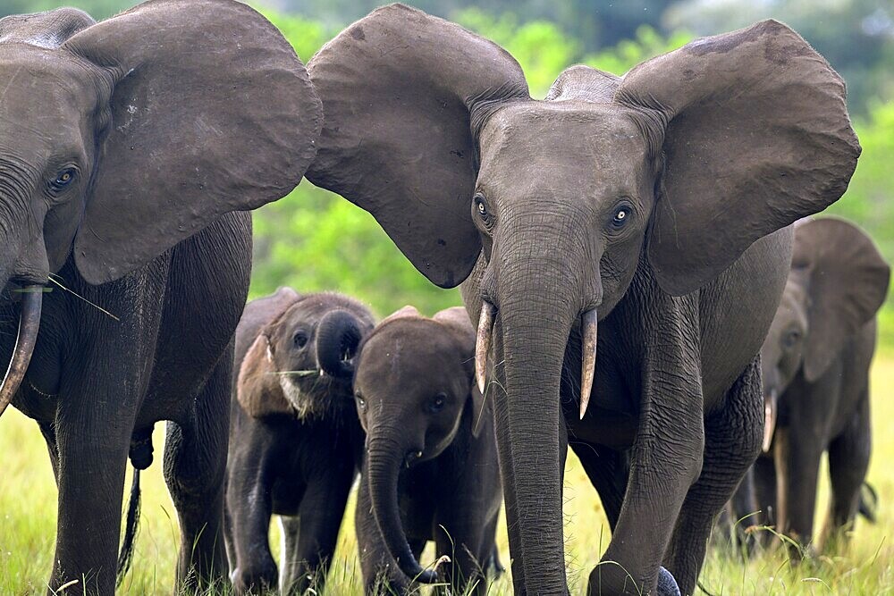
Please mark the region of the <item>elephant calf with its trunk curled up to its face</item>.
[[358, 301], [281, 288], [249, 302], [236, 330], [227, 548], [236, 592], [277, 585], [267, 539], [283, 526], [283, 593], [317, 591], [332, 562], [363, 431], [351, 359], [373, 329]]

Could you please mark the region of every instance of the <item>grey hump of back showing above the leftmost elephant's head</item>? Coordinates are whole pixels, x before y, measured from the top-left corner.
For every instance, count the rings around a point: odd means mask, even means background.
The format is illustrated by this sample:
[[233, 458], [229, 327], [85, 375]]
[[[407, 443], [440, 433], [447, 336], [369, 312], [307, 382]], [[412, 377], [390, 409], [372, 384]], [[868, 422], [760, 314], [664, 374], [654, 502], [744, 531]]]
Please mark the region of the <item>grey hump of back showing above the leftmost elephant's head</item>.
[[81, 29], [87, 29], [96, 22], [88, 13], [77, 8], [57, 8], [46, 13], [12, 14], [0, 19], [0, 44], [22, 43], [48, 49], [56, 48]]

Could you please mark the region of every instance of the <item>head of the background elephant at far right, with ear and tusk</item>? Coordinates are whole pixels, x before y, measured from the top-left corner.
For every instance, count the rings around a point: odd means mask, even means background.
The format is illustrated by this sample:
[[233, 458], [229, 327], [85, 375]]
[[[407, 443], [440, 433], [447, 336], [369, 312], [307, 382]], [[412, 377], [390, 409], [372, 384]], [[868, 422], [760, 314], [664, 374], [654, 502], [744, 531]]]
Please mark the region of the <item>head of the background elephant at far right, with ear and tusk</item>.
[[761, 348], [770, 449], [777, 401], [800, 373], [815, 382], [888, 293], [890, 266], [864, 231], [832, 217], [799, 222], [782, 302]]

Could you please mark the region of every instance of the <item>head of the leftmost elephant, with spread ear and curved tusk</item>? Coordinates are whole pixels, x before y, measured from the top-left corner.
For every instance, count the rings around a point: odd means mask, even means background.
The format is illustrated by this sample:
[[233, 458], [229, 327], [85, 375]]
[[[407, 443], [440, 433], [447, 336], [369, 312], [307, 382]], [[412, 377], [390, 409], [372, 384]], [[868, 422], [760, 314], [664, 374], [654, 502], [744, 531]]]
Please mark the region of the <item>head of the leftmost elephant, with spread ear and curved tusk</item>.
[[307, 71], [231, 0], [150, 0], [108, 21], [0, 21], [0, 289], [25, 288], [0, 412], [28, 367], [41, 287], [73, 257], [114, 281], [221, 214], [294, 188], [322, 124]]

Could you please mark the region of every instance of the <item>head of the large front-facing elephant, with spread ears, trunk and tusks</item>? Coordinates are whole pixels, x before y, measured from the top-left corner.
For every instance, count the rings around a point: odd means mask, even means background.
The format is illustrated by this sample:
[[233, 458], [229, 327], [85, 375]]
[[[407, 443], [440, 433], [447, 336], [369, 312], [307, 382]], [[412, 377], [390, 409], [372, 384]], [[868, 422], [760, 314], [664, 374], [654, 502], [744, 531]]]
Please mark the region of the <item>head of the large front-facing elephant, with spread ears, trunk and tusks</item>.
[[693, 292], [838, 199], [860, 153], [844, 83], [764, 21], [622, 78], [569, 68], [537, 101], [501, 47], [401, 4], [342, 31], [308, 71], [325, 110], [308, 179], [367, 209], [437, 285], [477, 264], [463, 293], [473, 315], [482, 305], [478, 363], [491, 337], [502, 350], [504, 491], [526, 520], [514, 557], [542, 566], [529, 592], [564, 593], [560, 470], [544, 462], [560, 458], [570, 333], [583, 413], [597, 320], [638, 267]]

